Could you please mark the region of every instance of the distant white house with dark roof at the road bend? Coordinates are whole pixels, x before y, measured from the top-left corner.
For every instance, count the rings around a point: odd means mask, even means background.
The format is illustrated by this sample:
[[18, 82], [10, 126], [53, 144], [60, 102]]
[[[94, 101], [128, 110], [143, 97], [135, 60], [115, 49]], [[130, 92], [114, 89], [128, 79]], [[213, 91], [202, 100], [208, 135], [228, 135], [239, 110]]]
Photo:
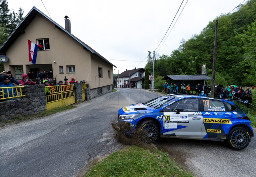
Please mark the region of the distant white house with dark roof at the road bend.
[[145, 77], [145, 69], [143, 68], [134, 68], [132, 70], [124, 71], [121, 74], [118, 74], [117, 76], [117, 85], [119, 88], [122, 87], [122, 85], [125, 86], [125, 84], [133, 84], [134, 88], [142, 88], [143, 80]]

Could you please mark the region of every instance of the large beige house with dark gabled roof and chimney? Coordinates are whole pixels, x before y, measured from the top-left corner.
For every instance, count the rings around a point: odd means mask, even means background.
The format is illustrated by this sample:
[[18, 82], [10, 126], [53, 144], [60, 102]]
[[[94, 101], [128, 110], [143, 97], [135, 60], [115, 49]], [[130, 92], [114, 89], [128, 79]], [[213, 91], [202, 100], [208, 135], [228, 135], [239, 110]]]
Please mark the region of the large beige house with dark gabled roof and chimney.
[[[17, 80], [23, 73], [38, 75], [42, 70], [52, 71], [57, 82], [65, 77], [68, 82], [85, 80], [88, 99], [112, 91], [116, 66], [71, 34], [70, 20], [65, 18], [63, 28], [33, 7], [0, 48], [0, 54], [8, 57], [4, 69], [12, 71]], [[39, 46], [35, 65], [28, 62], [28, 40]]]

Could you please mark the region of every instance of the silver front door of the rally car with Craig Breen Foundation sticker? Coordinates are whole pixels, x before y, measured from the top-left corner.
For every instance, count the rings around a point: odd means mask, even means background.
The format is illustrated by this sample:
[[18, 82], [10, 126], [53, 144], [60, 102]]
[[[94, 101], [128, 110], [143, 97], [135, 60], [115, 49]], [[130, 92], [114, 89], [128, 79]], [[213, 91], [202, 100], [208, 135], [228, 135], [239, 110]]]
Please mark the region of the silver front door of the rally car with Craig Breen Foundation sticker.
[[197, 98], [185, 98], [167, 106], [164, 109], [163, 135], [200, 138], [203, 117], [198, 112], [199, 107]]

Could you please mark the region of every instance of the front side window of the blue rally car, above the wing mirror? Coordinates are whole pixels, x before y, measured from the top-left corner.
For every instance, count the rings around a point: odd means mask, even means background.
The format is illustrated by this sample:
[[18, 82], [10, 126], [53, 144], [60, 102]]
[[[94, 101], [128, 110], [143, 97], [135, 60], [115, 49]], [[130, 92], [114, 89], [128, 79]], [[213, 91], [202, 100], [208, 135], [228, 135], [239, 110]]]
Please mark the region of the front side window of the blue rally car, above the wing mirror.
[[198, 99], [188, 98], [172, 103], [164, 108], [164, 112], [175, 112], [177, 109], [182, 109], [184, 112], [198, 111]]

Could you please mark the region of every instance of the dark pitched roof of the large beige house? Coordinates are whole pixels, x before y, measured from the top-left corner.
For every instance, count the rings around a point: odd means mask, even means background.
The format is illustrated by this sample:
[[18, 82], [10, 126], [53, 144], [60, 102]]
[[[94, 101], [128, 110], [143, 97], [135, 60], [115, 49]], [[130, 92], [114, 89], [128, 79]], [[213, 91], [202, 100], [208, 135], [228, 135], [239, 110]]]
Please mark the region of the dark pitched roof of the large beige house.
[[112, 66], [116, 67], [113, 65], [111, 62], [109, 62], [107, 59], [105, 59], [103, 56], [101, 56], [98, 52], [93, 50], [90, 46], [82, 42], [80, 39], [78, 39], [76, 36], [68, 32], [65, 28], [61, 27], [59, 24], [57, 24], [55, 21], [53, 21], [51, 18], [49, 18], [47, 15], [45, 15], [43, 12], [39, 11], [35, 6], [28, 12], [26, 17], [24, 17], [20, 24], [16, 27], [16, 29], [11, 33], [11, 35], [8, 37], [8, 39], [4, 42], [4, 44], [0, 47], [0, 53], [5, 53], [10, 46], [15, 42], [15, 40], [20, 36], [21, 33], [25, 33], [26, 27], [33, 21], [33, 19], [36, 17], [37, 14], [43, 15], [45, 18], [50, 20], [57, 29], [62, 30], [63, 32], [66, 32], [69, 36], [71, 36], [73, 39], [75, 39], [78, 43], [80, 43], [85, 50], [90, 51], [91, 53], [97, 55], [100, 57], [102, 60], [105, 60]]

